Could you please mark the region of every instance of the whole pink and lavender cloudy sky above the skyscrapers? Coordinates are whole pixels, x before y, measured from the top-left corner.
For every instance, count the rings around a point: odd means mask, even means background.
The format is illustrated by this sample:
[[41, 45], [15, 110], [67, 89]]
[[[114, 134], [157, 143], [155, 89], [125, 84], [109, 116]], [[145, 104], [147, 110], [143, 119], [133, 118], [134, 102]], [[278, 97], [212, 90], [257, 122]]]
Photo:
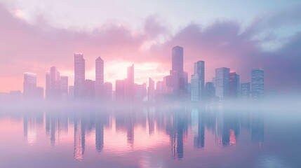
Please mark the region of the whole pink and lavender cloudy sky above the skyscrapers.
[[74, 52], [83, 52], [86, 78], [105, 60], [105, 80], [162, 80], [171, 48], [184, 47], [184, 69], [206, 62], [206, 81], [226, 66], [250, 81], [265, 69], [267, 90], [301, 90], [301, 3], [298, 1], [62, 1], [0, 0], [0, 92], [22, 90], [24, 72], [57, 66], [73, 85]]

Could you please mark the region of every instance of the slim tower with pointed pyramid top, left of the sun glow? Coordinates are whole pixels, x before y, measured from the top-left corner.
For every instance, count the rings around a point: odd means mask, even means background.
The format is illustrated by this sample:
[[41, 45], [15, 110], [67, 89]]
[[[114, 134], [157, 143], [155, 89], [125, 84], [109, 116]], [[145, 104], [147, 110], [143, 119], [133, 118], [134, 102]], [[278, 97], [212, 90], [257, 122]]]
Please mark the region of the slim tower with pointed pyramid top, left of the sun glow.
[[104, 85], [104, 61], [101, 57], [95, 60], [95, 97], [100, 99]]

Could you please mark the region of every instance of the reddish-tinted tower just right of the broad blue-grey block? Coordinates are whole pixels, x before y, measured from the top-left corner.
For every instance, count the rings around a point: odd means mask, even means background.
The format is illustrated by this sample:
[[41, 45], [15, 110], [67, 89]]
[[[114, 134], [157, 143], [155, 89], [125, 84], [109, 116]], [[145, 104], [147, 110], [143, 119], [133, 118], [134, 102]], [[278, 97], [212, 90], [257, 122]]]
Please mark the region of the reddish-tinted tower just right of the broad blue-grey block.
[[232, 71], [229, 73], [229, 97], [237, 99], [239, 97], [239, 75]]

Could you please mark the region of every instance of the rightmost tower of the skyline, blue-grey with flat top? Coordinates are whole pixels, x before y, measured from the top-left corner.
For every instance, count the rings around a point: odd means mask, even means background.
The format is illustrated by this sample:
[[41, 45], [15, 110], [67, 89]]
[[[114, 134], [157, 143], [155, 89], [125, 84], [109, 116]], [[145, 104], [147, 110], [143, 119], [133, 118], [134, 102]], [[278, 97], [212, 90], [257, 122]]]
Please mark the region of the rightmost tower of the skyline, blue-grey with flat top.
[[262, 69], [252, 70], [252, 83], [251, 83], [252, 97], [262, 99], [265, 94], [265, 75]]

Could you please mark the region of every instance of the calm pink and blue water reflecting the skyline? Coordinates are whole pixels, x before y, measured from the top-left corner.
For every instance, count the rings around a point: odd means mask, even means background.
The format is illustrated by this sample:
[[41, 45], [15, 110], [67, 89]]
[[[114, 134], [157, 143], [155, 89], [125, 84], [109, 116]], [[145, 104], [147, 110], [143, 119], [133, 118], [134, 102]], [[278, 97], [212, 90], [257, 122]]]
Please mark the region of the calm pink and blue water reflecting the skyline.
[[4, 111], [0, 167], [301, 167], [298, 111]]

